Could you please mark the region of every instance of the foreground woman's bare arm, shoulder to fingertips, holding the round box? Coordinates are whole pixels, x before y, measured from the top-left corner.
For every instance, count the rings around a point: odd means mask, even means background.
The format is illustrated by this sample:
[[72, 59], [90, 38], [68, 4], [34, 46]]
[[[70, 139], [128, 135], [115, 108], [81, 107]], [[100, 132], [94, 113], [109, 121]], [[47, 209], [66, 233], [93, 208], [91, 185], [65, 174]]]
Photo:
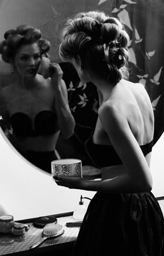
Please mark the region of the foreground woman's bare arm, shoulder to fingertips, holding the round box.
[[123, 162], [123, 173], [102, 181], [58, 176], [56, 183], [70, 188], [105, 193], [139, 193], [150, 191], [152, 188], [150, 170], [125, 116], [120, 114], [114, 107], [105, 106], [103, 111], [99, 112], [99, 117], [115, 151]]

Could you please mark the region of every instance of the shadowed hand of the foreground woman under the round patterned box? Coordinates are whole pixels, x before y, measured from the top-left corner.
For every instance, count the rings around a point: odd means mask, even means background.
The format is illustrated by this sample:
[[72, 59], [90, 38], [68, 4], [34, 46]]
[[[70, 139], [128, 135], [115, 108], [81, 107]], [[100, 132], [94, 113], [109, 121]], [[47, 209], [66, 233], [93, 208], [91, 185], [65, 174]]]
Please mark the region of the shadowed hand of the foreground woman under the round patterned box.
[[81, 177], [54, 176], [53, 178], [57, 185], [75, 189], [85, 189], [84, 187], [87, 181]]

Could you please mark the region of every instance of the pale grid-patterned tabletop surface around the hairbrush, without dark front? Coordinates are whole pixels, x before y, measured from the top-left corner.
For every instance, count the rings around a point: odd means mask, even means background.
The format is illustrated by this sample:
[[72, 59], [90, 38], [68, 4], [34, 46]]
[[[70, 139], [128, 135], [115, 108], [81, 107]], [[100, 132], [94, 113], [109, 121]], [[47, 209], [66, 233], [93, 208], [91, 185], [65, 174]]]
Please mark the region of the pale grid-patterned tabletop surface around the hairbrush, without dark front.
[[[13, 233], [0, 233], [0, 255], [10, 255], [16, 253], [16, 255], [30, 255], [36, 251], [37, 248], [44, 248], [53, 246], [53, 249], [57, 245], [75, 242], [79, 227], [67, 227], [67, 222], [75, 222], [73, 216], [57, 217], [57, 223], [63, 226], [65, 232], [56, 238], [48, 238], [42, 242], [38, 247], [29, 250], [30, 246], [41, 239], [43, 227], [35, 227], [33, 222], [23, 222], [30, 225], [29, 230], [25, 231], [24, 236], [16, 236]], [[54, 247], [55, 246], [55, 247]], [[55, 250], [55, 249], [54, 249]]]

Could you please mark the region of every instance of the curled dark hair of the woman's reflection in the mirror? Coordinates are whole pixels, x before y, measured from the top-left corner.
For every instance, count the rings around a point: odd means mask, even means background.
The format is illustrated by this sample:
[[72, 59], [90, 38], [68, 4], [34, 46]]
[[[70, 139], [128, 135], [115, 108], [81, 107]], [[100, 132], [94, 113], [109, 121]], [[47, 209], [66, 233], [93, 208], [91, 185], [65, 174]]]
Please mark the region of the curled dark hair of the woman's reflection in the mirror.
[[40, 30], [30, 25], [20, 25], [16, 29], [6, 31], [4, 39], [0, 43], [0, 54], [7, 63], [10, 63], [10, 60], [15, 58], [19, 47], [23, 44], [38, 42], [40, 53], [45, 55], [51, 47], [49, 41], [41, 38]]

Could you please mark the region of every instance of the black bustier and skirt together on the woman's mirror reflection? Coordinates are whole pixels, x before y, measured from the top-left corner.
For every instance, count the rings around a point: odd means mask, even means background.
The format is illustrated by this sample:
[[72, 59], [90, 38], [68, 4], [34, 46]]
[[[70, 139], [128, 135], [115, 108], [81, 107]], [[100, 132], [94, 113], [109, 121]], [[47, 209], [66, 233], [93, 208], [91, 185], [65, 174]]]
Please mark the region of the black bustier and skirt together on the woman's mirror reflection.
[[[34, 128], [32, 128], [32, 120], [30, 117], [21, 112], [14, 113], [11, 117], [11, 125], [13, 134], [20, 138], [48, 136], [56, 133], [59, 128], [57, 125], [57, 115], [55, 112], [43, 110], [34, 118]], [[33, 165], [40, 169], [51, 173], [51, 161], [56, 160], [55, 151], [21, 151], [19, 152]]]

